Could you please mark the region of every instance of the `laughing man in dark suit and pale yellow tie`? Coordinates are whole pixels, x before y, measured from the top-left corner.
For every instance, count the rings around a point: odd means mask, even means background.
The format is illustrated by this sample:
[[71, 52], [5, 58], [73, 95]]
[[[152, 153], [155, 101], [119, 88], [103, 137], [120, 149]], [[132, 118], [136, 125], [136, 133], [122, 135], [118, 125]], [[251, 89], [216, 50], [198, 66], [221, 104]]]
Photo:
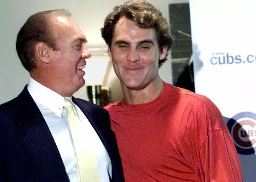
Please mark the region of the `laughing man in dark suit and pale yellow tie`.
[[84, 85], [86, 37], [66, 10], [38, 12], [17, 36], [30, 81], [0, 106], [0, 181], [122, 182], [106, 110], [72, 94]]

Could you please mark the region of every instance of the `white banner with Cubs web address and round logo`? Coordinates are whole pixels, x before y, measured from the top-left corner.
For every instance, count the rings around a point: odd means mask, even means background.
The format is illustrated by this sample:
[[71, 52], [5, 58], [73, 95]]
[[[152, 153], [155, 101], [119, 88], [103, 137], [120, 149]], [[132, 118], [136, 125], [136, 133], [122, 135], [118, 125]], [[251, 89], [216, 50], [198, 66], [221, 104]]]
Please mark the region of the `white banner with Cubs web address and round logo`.
[[256, 0], [190, 0], [196, 93], [220, 109], [256, 181]]

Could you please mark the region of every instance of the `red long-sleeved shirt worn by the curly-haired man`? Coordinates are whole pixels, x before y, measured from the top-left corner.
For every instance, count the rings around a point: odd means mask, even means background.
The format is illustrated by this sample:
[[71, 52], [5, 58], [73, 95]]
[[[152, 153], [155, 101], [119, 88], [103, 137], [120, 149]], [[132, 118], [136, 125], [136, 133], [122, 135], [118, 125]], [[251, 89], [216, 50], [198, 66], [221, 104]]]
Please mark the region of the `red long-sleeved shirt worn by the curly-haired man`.
[[208, 98], [164, 83], [150, 103], [105, 108], [116, 133], [126, 182], [241, 182], [236, 148]]

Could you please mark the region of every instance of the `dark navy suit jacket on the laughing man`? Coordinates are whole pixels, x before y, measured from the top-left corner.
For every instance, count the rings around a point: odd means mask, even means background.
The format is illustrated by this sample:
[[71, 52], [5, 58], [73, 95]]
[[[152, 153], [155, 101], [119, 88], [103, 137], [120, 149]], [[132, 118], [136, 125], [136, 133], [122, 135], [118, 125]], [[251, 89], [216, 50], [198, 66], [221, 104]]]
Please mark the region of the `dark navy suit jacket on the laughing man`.
[[[98, 133], [112, 163], [112, 181], [124, 175], [108, 112], [83, 99], [76, 105]], [[68, 175], [52, 134], [27, 86], [0, 106], [0, 181], [68, 182]]]

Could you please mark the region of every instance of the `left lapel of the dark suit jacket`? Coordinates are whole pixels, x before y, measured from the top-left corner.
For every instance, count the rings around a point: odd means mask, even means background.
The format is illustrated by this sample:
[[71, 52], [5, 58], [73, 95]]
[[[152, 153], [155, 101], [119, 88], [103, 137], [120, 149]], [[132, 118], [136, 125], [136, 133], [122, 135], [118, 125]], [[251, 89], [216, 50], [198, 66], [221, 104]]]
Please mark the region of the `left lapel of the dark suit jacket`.
[[65, 166], [52, 134], [27, 86], [18, 96], [19, 124], [27, 130], [24, 141], [49, 181], [68, 181]]

